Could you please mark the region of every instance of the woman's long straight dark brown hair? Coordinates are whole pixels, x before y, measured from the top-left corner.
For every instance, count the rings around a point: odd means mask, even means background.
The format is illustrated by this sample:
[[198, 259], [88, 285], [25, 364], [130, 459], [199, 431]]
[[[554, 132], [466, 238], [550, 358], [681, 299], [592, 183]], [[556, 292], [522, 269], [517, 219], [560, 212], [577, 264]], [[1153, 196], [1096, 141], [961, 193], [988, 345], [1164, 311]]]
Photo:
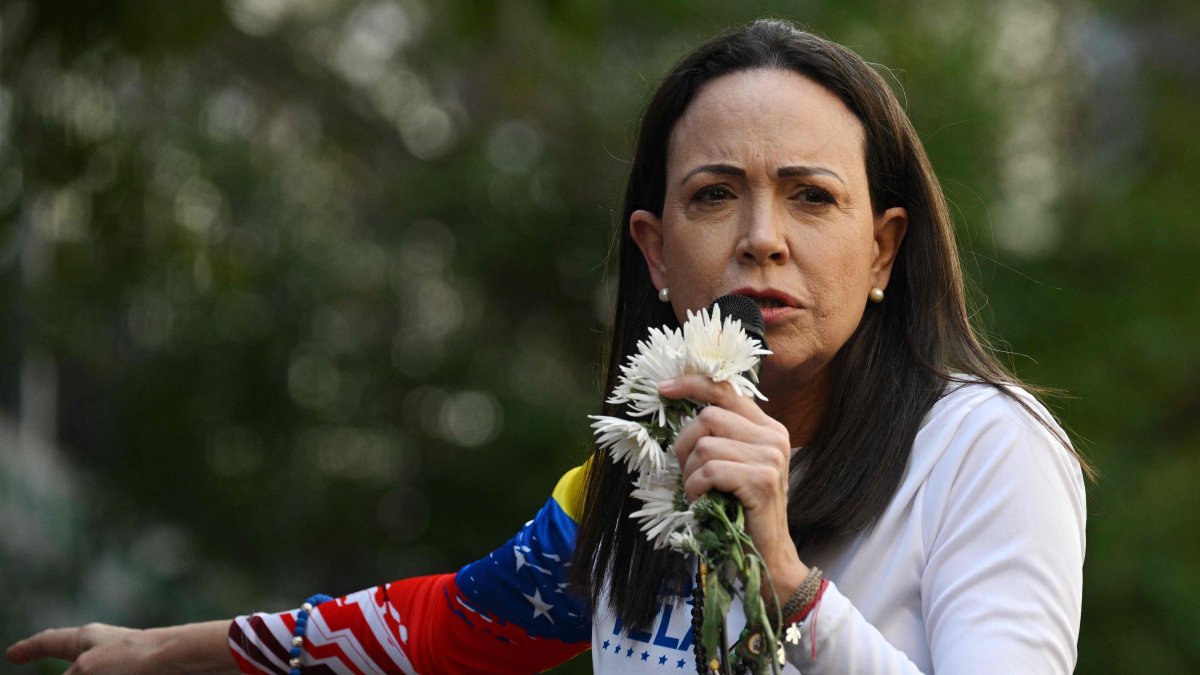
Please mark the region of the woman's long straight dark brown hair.
[[[1003, 384], [1015, 378], [971, 325], [946, 198], [883, 78], [845, 47], [786, 22], [761, 19], [686, 55], [642, 115], [622, 219], [616, 223], [619, 277], [605, 392], [612, 390], [618, 366], [648, 327], [676, 324], [671, 307], [655, 299], [646, 263], [629, 234], [630, 215], [638, 209], [661, 215], [668, 138], [697, 91], [714, 78], [752, 68], [791, 70], [836, 95], [865, 130], [872, 210], [904, 207], [908, 213], [887, 300], [866, 307], [829, 364], [833, 377], [823, 422], [793, 461], [788, 525], [797, 548], [805, 548], [857, 533], [878, 518], [900, 485], [920, 420], [948, 381], [967, 376], [1012, 395]], [[604, 408], [605, 414], [622, 414], [617, 406]], [[653, 620], [661, 585], [684, 586], [685, 561], [653, 550], [629, 518], [638, 504], [630, 498], [628, 471], [607, 459], [593, 459], [572, 581], [593, 607], [607, 595], [623, 623], [644, 626]]]

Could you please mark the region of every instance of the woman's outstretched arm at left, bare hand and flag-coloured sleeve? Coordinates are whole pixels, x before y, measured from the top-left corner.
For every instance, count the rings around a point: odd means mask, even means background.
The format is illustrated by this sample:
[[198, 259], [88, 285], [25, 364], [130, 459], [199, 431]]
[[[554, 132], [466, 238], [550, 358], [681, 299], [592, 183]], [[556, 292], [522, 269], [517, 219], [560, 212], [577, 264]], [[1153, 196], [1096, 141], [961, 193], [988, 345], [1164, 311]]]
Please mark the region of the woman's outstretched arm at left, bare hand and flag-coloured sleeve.
[[[304, 664], [332, 673], [533, 673], [586, 650], [590, 613], [566, 587], [581, 479], [581, 470], [568, 472], [512, 539], [457, 574], [406, 579], [322, 604], [308, 620]], [[295, 616], [146, 631], [55, 628], [12, 645], [7, 657], [72, 661], [70, 675], [286, 675]]]

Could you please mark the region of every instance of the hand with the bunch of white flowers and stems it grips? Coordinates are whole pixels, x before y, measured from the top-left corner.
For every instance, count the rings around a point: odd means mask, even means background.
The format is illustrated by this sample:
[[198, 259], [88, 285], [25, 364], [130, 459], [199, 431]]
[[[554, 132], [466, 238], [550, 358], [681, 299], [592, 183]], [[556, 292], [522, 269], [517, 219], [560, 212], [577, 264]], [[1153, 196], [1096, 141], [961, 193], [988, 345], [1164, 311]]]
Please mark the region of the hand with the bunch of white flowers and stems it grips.
[[[782, 568], [798, 558], [787, 533], [788, 434], [752, 400], [766, 400], [755, 366], [770, 352], [739, 321], [722, 321], [719, 305], [689, 312], [682, 329], [652, 329], [638, 347], [610, 399], [631, 419], [593, 416], [598, 442], [635, 474], [632, 496], [643, 506], [631, 516], [654, 546], [695, 554], [713, 571], [697, 645], [721, 655], [714, 661], [722, 667], [774, 669], [780, 617], [778, 602], [769, 616], [763, 599], [774, 597], [766, 562]], [[726, 657], [734, 596], [748, 628]]]

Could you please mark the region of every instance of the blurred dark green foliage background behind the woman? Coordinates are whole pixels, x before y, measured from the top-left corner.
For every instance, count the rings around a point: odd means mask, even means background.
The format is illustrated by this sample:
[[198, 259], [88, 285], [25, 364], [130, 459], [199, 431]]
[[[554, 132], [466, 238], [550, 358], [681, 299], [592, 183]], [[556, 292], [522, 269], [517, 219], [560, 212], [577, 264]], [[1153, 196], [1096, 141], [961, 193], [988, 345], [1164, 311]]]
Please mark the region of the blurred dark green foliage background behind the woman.
[[890, 66], [980, 325], [1069, 394], [1079, 671], [1200, 670], [1195, 7], [5, 2], [0, 641], [508, 538], [586, 453], [641, 104], [769, 14]]

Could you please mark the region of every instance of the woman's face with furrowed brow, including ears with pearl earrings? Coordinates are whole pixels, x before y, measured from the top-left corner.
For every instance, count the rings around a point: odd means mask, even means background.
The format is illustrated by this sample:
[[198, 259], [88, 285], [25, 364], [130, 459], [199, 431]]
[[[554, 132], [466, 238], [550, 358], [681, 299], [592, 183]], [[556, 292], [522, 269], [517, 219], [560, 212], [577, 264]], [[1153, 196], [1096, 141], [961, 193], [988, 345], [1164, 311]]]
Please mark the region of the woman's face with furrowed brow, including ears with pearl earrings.
[[829, 363], [871, 287], [887, 287], [906, 226], [901, 208], [871, 213], [858, 119], [786, 70], [707, 83], [671, 133], [661, 217], [630, 217], [680, 321], [727, 293], [758, 301], [764, 384], [811, 382]]

